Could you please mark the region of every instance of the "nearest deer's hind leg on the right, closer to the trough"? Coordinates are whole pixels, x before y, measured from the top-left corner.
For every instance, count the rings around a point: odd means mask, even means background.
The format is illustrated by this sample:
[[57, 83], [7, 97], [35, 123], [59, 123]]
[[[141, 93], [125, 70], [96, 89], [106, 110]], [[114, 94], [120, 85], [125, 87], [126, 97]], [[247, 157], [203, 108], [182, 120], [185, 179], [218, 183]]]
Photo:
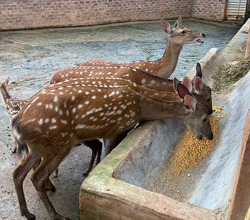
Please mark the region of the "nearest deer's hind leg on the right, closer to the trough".
[[[44, 158], [39, 167], [31, 175], [31, 181], [37, 190], [37, 193], [42, 200], [47, 212], [52, 220], [69, 220], [68, 218], [59, 215], [51, 204], [45, 189], [45, 184], [50, 174], [59, 166], [67, 154], [58, 155], [56, 158]], [[61, 156], [59, 158], [59, 156]]]

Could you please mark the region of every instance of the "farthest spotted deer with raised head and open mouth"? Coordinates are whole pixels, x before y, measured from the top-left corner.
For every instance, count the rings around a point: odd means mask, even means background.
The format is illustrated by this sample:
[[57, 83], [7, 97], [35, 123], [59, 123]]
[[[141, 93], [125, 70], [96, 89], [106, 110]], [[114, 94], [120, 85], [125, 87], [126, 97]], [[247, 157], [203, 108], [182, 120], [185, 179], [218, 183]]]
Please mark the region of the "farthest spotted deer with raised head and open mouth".
[[201, 39], [205, 38], [206, 35], [182, 27], [181, 17], [174, 23], [173, 27], [171, 27], [167, 21], [162, 20], [161, 23], [163, 30], [168, 35], [165, 52], [162, 58], [156, 61], [137, 61], [130, 63], [90, 60], [82, 63], [80, 66], [130, 66], [152, 75], [169, 78], [177, 66], [183, 46], [202, 45], [204, 42]]

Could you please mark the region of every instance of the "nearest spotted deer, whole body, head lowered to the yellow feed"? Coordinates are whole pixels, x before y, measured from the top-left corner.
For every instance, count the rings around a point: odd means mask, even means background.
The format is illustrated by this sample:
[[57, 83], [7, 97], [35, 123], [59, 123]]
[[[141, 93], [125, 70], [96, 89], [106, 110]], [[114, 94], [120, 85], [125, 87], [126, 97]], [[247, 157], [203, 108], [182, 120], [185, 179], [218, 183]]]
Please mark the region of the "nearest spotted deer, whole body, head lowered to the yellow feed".
[[[171, 97], [175, 96], [175, 100], [172, 101], [165, 100], [167, 95], [162, 99], [162, 91], [128, 81], [112, 84], [105, 78], [96, 84], [81, 79], [69, 80], [50, 85], [35, 94], [12, 123], [20, 146], [29, 148], [28, 155], [13, 171], [21, 215], [29, 220], [35, 219], [26, 205], [23, 181], [41, 157], [41, 164], [31, 175], [34, 187], [51, 219], [68, 219], [55, 211], [46, 194], [45, 183], [78, 143], [98, 138], [114, 141], [139, 122], [165, 118], [183, 120], [197, 137], [213, 139], [204, 106], [184, 85], [174, 82], [180, 97], [173, 92]], [[143, 90], [140, 92], [140, 89]]]

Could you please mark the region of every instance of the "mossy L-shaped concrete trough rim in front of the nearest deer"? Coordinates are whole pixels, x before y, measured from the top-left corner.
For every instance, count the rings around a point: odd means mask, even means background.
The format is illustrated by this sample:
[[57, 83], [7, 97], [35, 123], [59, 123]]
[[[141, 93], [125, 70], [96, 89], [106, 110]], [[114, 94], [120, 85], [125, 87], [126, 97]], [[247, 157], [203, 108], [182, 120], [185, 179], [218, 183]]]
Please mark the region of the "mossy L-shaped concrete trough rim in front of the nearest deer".
[[80, 192], [82, 219], [218, 219], [214, 211], [182, 203], [113, 178], [119, 164], [154, 136], [158, 122], [134, 130], [96, 167]]

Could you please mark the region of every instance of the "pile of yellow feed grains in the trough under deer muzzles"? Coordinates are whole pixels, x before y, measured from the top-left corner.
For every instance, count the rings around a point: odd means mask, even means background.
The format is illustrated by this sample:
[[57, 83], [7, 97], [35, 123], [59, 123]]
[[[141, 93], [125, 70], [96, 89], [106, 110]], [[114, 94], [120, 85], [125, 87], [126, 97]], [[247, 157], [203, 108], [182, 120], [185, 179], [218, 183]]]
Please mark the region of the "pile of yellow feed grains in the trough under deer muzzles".
[[[215, 109], [217, 112], [220, 111], [220, 113], [222, 111], [221, 107]], [[226, 113], [223, 113], [223, 117], [225, 116]], [[199, 140], [190, 128], [184, 131], [168, 163], [172, 175], [175, 177], [183, 176], [188, 170], [196, 167], [202, 159], [214, 150], [219, 138], [219, 120], [221, 118], [220, 114], [217, 114], [215, 117], [210, 117], [210, 124], [214, 134], [213, 140], [206, 138]], [[189, 175], [190, 174], [188, 174], [188, 176]]]

